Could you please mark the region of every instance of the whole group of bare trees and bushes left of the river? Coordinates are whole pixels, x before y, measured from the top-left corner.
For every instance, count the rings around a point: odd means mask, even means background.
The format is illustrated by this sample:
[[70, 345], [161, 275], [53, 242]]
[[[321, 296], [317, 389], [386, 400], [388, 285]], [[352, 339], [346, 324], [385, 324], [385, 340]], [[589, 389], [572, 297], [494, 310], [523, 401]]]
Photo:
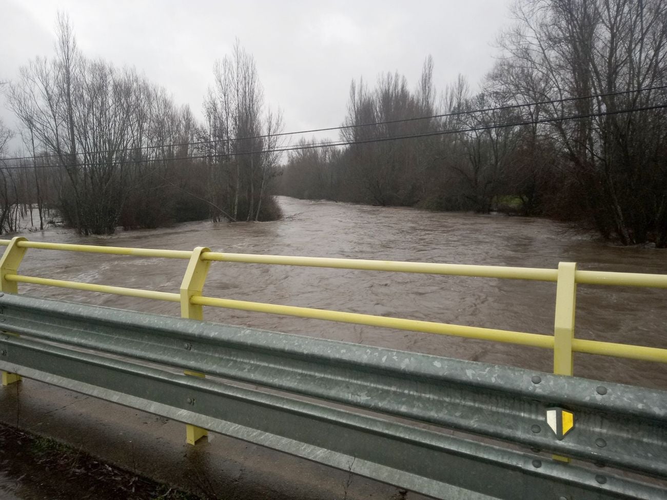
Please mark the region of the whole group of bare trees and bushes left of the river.
[[31, 225], [59, 219], [83, 235], [279, 217], [268, 187], [277, 157], [247, 154], [275, 141], [241, 137], [275, 133], [281, 115], [266, 109], [239, 43], [214, 76], [199, 123], [135, 69], [85, 57], [60, 14], [55, 55], [30, 61], [5, 85], [28, 153], [18, 165], [2, 161], [15, 133], [0, 124], [0, 231], [16, 231], [33, 209]]

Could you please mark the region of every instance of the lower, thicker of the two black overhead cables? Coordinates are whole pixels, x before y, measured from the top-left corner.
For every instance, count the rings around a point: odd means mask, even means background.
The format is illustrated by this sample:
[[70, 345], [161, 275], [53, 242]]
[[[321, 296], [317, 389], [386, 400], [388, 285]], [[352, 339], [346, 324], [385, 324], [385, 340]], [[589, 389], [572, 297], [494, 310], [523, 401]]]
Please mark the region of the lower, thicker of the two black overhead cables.
[[[143, 160], [111, 161], [111, 162], [105, 162], [104, 165], [107, 165], [107, 166], [109, 166], [109, 165], [127, 165], [127, 164], [137, 164], [137, 163], [154, 163], [154, 162], [157, 162], [157, 161], [179, 161], [179, 160], [191, 160], [191, 159], [211, 159], [211, 158], [222, 158], [222, 157], [230, 157], [230, 156], [255, 155], [255, 154], [261, 154], [261, 153], [283, 153], [283, 152], [286, 152], [286, 151], [299, 151], [299, 150], [304, 150], [304, 149], [317, 149], [317, 148], [320, 148], [320, 147], [351, 146], [351, 145], [359, 145], [359, 144], [396, 141], [396, 140], [402, 140], [402, 139], [418, 139], [420, 137], [434, 137], [434, 136], [450, 135], [450, 134], [464, 133], [464, 132], [488, 131], [488, 130], [493, 130], [493, 129], [507, 128], [507, 127], [520, 127], [520, 126], [524, 126], [524, 125], [538, 125], [540, 123], [553, 123], [553, 122], [565, 121], [565, 120], [585, 119], [585, 118], [592, 118], [592, 117], [619, 115], [619, 114], [622, 114], [622, 113], [634, 113], [636, 111], [650, 111], [652, 109], [665, 109], [665, 108], [667, 108], [667, 104], [655, 105], [655, 106], [646, 106], [646, 107], [638, 107], [638, 108], [633, 108], [633, 109], [620, 109], [620, 110], [616, 110], [616, 111], [604, 111], [602, 113], [589, 113], [589, 114], [586, 114], [586, 115], [574, 115], [574, 116], [568, 116], [568, 117], [544, 118], [544, 119], [539, 119], [539, 120], [528, 120], [528, 121], [520, 121], [520, 122], [515, 122], [515, 123], [502, 123], [500, 125], [485, 125], [483, 127], [470, 127], [468, 129], [441, 130], [441, 131], [433, 131], [433, 132], [428, 132], [428, 133], [419, 133], [419, 134], [412, 134], [412, 135], [394, 135], [394, 136], [374, 137], [372, 139], [365, 139], [365, 140], [360, 140], [360, 141], [332, 141], [332, 142], [329, 142], [329, 143], [311, 143], [311, 144], [281, 147], [281, 148], [275, 148], [275, 149], [259, 149], [259, 150], [256, 150], [256, 151], [244, 151], [244, 152], [241, 152], [241, 153], [215, 153], [215, 154], [209, 154], [209, 155], [191, 155], [191, 156], [174, 157], [174, 158], [167, 158], [167, 159], [143, 159]], [[71, 163], [69, 165], [48, 165], [47, 164], [47, 165], [27, 165], [27, 166], [5, 165], [5, 166], [0, 167], [0, 170], [30, 169], [30, 168], [58, 168], [58, 167], [61, 167], [61, 168], [65, 168], [65, 167], [93, 167], [93, 166], [98, 165], [98, 164], [99, 163]]]

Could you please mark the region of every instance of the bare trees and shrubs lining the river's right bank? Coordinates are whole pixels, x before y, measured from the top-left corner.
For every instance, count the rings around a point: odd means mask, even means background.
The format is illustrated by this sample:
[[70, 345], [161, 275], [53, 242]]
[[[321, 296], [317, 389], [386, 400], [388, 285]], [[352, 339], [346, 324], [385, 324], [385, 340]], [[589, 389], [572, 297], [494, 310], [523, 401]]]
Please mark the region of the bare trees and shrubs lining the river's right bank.
[[[461, 76], [438, 93], [430, 57], [414, 89], [398, 73], [353, 80], [349, 145], [291, 153], [280, 192], [542, 215], [667, 247], [667, 3], [522, 0], [512, 13], [478, 91]], [[385, 140], [405, 136], [422, 137]]]

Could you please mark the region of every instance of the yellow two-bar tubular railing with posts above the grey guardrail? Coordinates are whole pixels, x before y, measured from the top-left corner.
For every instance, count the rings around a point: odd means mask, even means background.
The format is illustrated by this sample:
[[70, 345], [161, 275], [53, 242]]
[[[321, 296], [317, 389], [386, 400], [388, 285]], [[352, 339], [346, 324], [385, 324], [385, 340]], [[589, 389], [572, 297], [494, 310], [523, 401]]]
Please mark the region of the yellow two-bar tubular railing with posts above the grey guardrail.
[[[458, 265], [440, 263], [372, 261], [360, 259], [331, 259], [325, 257], [290, 257], [281, 255], [251, 255], [243, 253], [212, 252], [204, 247], [193, 251], [160, 250], [126, 247], [102, 247], [95, 245], [71, 245], [67, 243], [43, 243], [27, 241], [22, 237], [11, 240], [0, 240], [0, 246], [7, 249], [0, 260], [0, 289], [17, 293], [18, 283], [46, 285], [69, 289], [93, 291], [157, 299], [181, 303], [181, 315], [193, 319], [202, 319], [202, 307], [223, 307], [256, 311], [277, 315], [289, 315], [304, 318], [322, 319], [355, 323], [374, 327], [386, 327], [399, 330], [436, 333], [438, 335], [454, 335], [472, 339], [483, 339], [496, 342], [528, 345], [554, 350], [554, 373], [572, 375], [572, 353], [588, 353], [644, 361], [667, 363], [667, 349], [626, 345], [602, 341], [576, 339], [574, 337], [574, 317], [576, 287], [586, 285], [621, 285], [632, 287], [652, 287], [667, 289], [667, 275], [640, 273], [612, 273], [603, 271], [579, 271], [574, 263], [560, 263], [558, 269], [537, 269], [528, 267], [500, 267], [486, 265]], [[43, 277], [18, 274], [21, 259], [27, 249], [44, 249], [99, 253], [106, 255], [131, 255], [135, 257], [163, 257], [167, 259], [189, 260], [180, 293], [167, 293], [125, 287], [79, 283]], [[391, 271], [398, 273], [422, 273], [449, 276], [487, 277], [500, 279], [524, 279], [532, 281], [556, 282], [556, 314], [554, 335], [542, 335], [519, 331], [508, 331], [492, 328], [451, 325], [432, 321], [417, 321], [396, 317], [374, 316], [342, 311], [313, 309], [310, 307], [294, 307], [290, 305], [274, 305], [233, 299], [205, 297], [202, 295], [203, 285], [209, 265], [213, 261], [255, 263], [267, 265], [288, 265], [305, 267], [329, 267], [334, 269], [358, 269], [366, 271]], [[193, 374], [198, 375], [198, 374]]]

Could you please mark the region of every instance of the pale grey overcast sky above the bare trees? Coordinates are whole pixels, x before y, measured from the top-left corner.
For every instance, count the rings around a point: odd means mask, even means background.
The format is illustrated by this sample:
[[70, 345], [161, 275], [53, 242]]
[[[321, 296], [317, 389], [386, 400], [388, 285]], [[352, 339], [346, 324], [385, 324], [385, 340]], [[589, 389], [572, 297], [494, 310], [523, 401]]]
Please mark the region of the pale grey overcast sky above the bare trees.
[[[340, 125], [350, 81], [384, 71], [417, 83], [432, 55], [440, 90], [459, 73], [475, 86], [493, 62], [509, 0], [142, 1], [0, 0], [0, 81], [53, 54], [55, 17], [69, 13], [88, 57], [134, 66], [201, 117], [213, 61], [236, 37], [253, 54], [265, 100], [285, 131]], [[14, 125], [0, 97], [0, 116]]]

